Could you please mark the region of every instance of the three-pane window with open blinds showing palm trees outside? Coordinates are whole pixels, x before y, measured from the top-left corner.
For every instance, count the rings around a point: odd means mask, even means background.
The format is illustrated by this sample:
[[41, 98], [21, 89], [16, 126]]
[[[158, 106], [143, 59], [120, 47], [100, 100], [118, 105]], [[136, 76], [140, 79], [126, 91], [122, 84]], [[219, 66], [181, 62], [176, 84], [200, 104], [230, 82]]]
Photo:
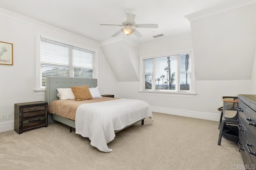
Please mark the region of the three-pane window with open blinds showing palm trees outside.
[[190, 53], [142, 60], [142, 91], [191, 92]]

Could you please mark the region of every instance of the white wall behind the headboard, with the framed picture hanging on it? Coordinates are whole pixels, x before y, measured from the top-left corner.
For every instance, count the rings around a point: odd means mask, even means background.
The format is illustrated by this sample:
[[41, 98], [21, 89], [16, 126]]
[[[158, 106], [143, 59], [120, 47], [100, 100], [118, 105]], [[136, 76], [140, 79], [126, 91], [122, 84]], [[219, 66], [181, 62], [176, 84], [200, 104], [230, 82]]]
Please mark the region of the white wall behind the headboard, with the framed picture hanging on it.
[[36, 86], [36, 31], [98, 50], [98, 86], [101, 94], [115, 94], [116, 78], [97, 43], [70, 33], [0, 11], [0, 41], [13, 43], [14, 64], [0, 65], [0, 115], [12, 113], [11, 119], [0, 120], [0, 132], [14, 129], [14, 104], [44, 101], [45, 95], [34, 92]]

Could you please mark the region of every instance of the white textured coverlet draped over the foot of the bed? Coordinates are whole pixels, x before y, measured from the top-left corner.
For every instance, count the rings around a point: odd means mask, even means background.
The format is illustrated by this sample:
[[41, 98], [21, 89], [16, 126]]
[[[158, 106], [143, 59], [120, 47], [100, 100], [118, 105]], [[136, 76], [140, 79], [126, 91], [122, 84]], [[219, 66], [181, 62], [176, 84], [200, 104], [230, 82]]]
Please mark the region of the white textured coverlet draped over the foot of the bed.
[[82, 104], [76, 110], [76, 134], [88, 137], [91, 145], [102, 152], [111, 152], [107, 143], [115, 138], [114, 131], [143, 119], [152, 118], [148, 103], [141, 100], [117, 99]]

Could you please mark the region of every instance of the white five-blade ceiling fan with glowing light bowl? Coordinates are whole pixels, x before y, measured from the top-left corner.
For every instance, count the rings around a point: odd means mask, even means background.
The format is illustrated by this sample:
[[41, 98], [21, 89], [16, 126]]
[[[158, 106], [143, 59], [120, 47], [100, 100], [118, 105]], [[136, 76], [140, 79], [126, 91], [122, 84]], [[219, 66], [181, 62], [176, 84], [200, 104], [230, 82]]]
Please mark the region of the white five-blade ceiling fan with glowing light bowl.
[[123, 21], [122, 24], [111, 24], [111, 23], [101, 23], [100, 25], [112, 25], [112, 26], [122, 26], [122, 28], [114, 33], [111, 37], [116, 37], [116, 35], [120, 34], [121, 32], [124, 32], [126, 35], [131, 35], [134, 33], [134, 35], [137, 38], [141, 38], [142, 35], [139, 33], [139, 31], [136, 30], [136, 28], [158, 28], [157, 24], [151, 24], [151, 23], [141, 23], [136, 24], [134, 22], [134, 18], [136, 17], [135, 14], [132, 14], [131, 9], [126, 9], [125, 13], [127, 14], [126, 21]]

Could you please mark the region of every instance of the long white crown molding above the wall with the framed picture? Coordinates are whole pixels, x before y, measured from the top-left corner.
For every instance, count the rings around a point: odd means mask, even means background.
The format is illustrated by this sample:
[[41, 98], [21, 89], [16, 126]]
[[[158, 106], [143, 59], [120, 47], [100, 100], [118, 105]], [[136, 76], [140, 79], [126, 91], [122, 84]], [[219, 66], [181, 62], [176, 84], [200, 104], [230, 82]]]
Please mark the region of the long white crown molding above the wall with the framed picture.
[[65, 35], [68, 35], [68, 36], [71, 36], [71, 37], [74, 37], [74, 38], [77, 38], [77, 39], [80, 39], [82, 41], [86, 41], [87, 43], [90, 43], [92, 45], [97, 45], [99, 46], [99, 43], [96, 42], [96, 41], [92, 41], [88, 38], [85, 38], [85, 37], [82, 37], [80, 35], [76, 35], [74, 33], [70, 33], [68, 31], [64, 31], [63, 29], [59, 29], [57, 27], [54, 27], [54, 26], [51, 26], [51, 25], [48, 25], [46, 23], [42, 23], [40, 21], [36, 21], [36, 20], [33, 20], [31, 18], [28, 18], [28, 17], [25, 17], [25, 16], [22, 16], [20, 14], [16, 14], [14, 12], [10, 12], [8, 10], [5, 10], [3, 8], [0, 8], [0, 14], [1, 15], [4, 15], [4, 16], [8, 16], [10, 18], [14, 18], [16, 20], [20, 20], [20, 21], [24, 21], [26, 23], [29, 23], [29, 24], [32, 24], [32, 25], [35, 25], [35, 26], [39, 26], [39, 27], [43, 27], [43, 28], [46, 28], [46, 29], [50, 29], [52, 31], [56, 31], [58, 33], [63, 33]]

